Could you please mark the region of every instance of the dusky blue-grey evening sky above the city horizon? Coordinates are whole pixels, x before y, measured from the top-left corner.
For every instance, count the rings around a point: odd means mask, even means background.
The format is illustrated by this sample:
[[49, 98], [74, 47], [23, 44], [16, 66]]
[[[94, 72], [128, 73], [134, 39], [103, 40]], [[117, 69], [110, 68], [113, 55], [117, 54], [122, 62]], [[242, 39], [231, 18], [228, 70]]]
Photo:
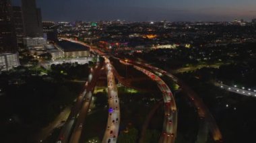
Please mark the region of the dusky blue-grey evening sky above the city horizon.
[[[21, 0], [12, 0], [20, 5]], [[256, 18], [256, 0], [38, 0], [44, 21], [232, 21]]]

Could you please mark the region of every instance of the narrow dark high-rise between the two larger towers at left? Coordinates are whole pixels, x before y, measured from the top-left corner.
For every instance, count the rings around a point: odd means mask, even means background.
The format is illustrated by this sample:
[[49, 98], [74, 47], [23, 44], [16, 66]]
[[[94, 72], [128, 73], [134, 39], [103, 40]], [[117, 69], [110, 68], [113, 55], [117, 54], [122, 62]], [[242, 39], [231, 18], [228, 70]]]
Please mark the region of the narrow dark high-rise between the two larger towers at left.
[[18, 7], [18, 6], [13, 7], [13, 21], [14, 21], [14, 27], [15, 27], [18, 45], [22, 46], [23, 38], [24, 38], [22, 7]]

